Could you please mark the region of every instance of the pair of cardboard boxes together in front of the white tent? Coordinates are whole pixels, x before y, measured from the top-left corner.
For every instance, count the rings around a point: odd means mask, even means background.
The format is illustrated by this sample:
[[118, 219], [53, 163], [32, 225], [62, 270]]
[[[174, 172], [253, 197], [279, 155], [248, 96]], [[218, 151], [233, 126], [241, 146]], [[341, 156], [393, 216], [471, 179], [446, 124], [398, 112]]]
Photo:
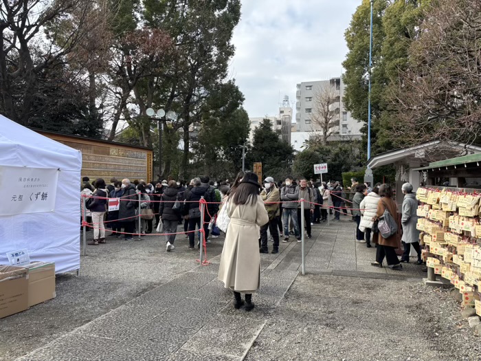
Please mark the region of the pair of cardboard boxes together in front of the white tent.
[[0, 318], [55, 298], [55, 263], [0, 265]]

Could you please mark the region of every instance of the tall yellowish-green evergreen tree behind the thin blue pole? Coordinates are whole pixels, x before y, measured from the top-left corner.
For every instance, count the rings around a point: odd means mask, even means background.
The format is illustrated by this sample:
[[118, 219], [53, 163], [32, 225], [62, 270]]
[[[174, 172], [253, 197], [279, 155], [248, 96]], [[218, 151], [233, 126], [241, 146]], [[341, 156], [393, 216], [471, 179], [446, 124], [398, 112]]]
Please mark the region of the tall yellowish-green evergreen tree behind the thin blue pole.
[[[394, 149], [389, 85], [399, 83], [399, 73], [407, 67], [408, 50], [418, 35], [425, 8], [431, 1], [374, 1], [372, 45], [372, 155]], [[368, 80], [370, 43], [370, 1], [363, 0], [346, 30], [348, 55], [343, 66], [346, 84], [344, 101], [353, 117], [368, 121]], [[367, 124], [362, 128], [367, 149]], [[399, 141], [399, 139], [397, 140]], [[398, 142], [398, 146], [399, 146]]]

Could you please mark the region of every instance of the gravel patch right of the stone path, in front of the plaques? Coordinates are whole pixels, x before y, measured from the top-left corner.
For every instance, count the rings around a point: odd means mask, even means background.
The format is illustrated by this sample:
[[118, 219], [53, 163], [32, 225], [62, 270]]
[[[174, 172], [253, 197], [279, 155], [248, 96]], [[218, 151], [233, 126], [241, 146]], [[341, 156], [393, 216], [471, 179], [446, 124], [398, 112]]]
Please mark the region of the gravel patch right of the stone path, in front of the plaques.
[[298, 276], [245, 360], [481, 360], [460, 305], [421, 281]]

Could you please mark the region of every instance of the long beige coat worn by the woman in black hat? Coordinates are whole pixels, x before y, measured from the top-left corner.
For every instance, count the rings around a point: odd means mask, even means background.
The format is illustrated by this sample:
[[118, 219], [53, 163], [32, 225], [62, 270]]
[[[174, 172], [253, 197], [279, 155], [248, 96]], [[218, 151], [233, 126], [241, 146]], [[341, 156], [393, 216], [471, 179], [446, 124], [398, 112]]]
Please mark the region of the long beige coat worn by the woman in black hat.
[[228, 200], [230, 223], [225, 234], [219, 267], [219, 281], [225, 288], [252, 293], [260, 285], [259, 228], [269, 221], [264, 202], [237, 206]]

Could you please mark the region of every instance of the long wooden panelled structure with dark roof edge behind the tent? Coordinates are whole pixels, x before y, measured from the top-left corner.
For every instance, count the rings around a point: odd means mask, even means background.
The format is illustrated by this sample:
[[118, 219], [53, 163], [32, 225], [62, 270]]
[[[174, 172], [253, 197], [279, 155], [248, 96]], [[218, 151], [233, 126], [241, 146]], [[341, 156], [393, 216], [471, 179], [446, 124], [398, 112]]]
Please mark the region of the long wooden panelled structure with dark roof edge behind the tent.
[[81, 151], [82, 177], [89, 177], [91, 181], [103, 178], [108, 184], [111, 177], [118, 180], [123, 178], [144, 179], [147, 182], [153, 180], [152, 149], [41, 129], [32, 130]]

